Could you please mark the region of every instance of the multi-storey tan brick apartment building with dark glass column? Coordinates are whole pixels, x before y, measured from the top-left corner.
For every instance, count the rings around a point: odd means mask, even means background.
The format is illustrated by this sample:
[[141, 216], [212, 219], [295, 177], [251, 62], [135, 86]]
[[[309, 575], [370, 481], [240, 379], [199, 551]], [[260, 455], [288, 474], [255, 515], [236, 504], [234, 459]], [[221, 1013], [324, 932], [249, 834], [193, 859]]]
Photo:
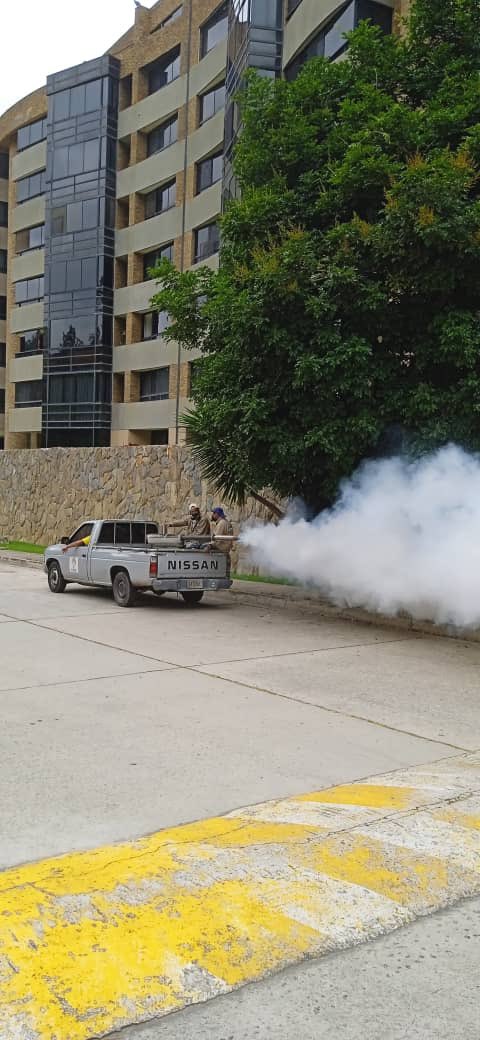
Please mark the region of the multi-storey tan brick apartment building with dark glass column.
[[159, 256], [218, 264], [247, 67], [293, 78], [399, 0], [159, 0], [0, 116], [0, 446], [175, 444], [194, 354], [152, 311]]

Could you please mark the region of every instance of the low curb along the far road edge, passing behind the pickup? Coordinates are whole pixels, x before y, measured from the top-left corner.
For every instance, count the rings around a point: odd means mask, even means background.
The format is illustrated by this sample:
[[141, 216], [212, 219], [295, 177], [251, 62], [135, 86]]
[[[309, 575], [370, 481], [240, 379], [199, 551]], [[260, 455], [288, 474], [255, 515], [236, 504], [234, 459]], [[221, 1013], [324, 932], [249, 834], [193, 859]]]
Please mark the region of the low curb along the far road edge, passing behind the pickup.
[[[2, 561], [20, 567], [36, 568], [36, 570], [44, 566], [41, 555], [8, 552], [7, 549], [0, 549], [0, 563]], [[338, 606], [324, 599], [321, 593], [313, 589], [270, 584], [268, 581], [254, 582], [236, 579], [231, 590], [232, 594], [240, 601], [243, 600], [246, 605], [251, 604], [254, 600], [263, 606], [275, 609], [297, 606], [303, 610], [315, 612], [319, 617], [329, 618], [331, 621], [352, 621], [363, 625], [377, 625], [380, 628], [400, 629], [403, 632], [418, 632], [419, 635], [436, 635], [444, 639], [480, 643], [480, 629], [478, 628], [455, 628], [453, 625], [435, 625], [432, 621], [419, 621], [407, 614], [390, 617], [384, 614], [372, 614], [362, 607]]]

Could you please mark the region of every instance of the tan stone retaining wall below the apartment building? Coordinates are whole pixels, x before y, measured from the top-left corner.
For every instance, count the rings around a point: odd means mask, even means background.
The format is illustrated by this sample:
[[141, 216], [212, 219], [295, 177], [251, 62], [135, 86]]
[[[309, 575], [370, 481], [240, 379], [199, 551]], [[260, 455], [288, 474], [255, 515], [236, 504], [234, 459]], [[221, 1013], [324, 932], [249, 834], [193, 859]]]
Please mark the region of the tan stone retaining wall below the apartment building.
[[[48, 448], [0, 451], [0, 538], [47, 545], [84, 519], [181, 518], [191, 501], [220, 504], [188, 448]], [[250, 501], [233, 521], [265, 511]], [[236, 528], [237, 529], [237, 528]], [[234, 565], [251, 571], [243, 555]]]

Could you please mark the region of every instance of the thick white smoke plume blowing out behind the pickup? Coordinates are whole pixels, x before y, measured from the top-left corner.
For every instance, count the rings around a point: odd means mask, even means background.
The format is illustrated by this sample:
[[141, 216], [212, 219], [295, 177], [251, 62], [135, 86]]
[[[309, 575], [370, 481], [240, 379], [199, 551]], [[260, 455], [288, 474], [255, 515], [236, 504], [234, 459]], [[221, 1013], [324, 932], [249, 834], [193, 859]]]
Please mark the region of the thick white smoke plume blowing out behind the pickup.
[[367, 463], [314, 521], [297, 513], [241, 541], [264, 573], [337, 604], [479, 625], [480, 457], [450, 445], [417, 462]]

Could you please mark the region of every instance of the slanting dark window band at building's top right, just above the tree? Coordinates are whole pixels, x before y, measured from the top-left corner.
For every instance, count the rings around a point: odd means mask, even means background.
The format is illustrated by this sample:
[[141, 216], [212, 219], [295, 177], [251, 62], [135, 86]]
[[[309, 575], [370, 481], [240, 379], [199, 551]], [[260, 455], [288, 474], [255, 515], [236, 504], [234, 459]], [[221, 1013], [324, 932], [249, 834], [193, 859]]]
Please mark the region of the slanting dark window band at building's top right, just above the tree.
[[310, 58], [324, 57], [330, 61], [339, 58], [348, 48], [344, 34], [351, 32], [365, 19], [378, 25], [383, 32], [392, 32], [392, 7], [385, 7], [384, 4], [377, 3], [377, 0], [351, 0], [291, 61], [286, 70], [287, 79], [295, 79]]

